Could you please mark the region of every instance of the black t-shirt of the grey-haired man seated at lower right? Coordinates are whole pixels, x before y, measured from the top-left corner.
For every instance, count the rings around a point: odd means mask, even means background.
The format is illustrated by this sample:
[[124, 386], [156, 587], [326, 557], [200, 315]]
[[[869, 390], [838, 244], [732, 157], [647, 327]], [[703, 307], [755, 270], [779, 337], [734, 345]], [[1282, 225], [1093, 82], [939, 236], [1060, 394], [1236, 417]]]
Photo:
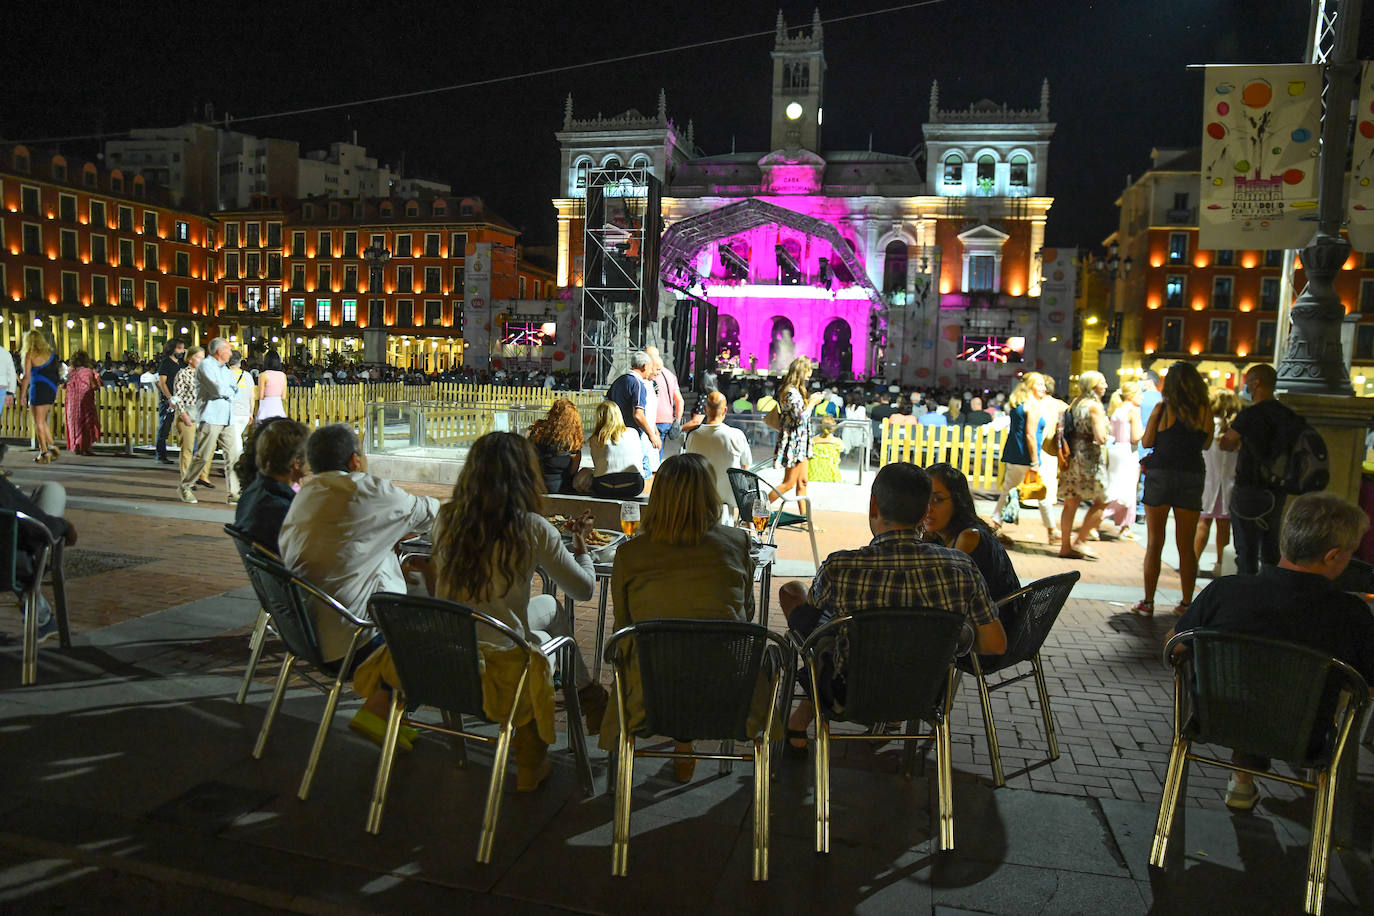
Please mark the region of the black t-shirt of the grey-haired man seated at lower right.
[[1175, 629], [1202, 626], [1309, 645], [1374, 683], [1374, 615], [1364, 602], [1315, 573], [1265, 566], [1259, 575], [1216, 580], [1193, 599]]

